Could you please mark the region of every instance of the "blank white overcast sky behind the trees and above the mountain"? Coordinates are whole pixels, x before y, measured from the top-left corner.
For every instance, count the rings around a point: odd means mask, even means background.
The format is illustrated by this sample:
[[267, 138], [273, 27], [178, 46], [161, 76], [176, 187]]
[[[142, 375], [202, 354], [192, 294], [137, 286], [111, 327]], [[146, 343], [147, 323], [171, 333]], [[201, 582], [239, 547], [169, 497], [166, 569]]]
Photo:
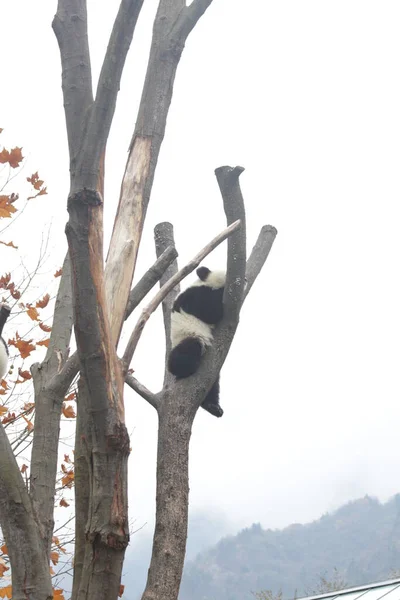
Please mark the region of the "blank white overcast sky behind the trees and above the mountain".
[[[89, 1], [96, 76], [117, 5]], [[145, 5], [108, 146], [108, 233], [156, 1]], [[12, 237], [23, 247], [52, 222], [50, 271], [66, 247], [68, 193], [55, 9], [0, 9], [2, 143], [24, 147], [50, 193]], [[262, 224], [279, 232], [222, 371], [225, 415], [199, 411], [191, 444], [191, 509], [217, 508], [235, 527], [400, 491], [399, 19], [395, 0], [214, 0], [184, 51], [137, 274], [154, 260], [157, 222], [174, 223], [181, 264], [224, 226], [222, 164], [246, 167], [249, 249]], [[224, 251], [205, 264], [221, 267]], [[35, 257], [33, 241], [25, 253]], [[15, 252], [0, 256], [4, 271]], [[154, 391], [163, 354], [159, 313], [133, 364]], [[130, 392], [127, 423], [140, 525], [154, 513], [157, 423]]]

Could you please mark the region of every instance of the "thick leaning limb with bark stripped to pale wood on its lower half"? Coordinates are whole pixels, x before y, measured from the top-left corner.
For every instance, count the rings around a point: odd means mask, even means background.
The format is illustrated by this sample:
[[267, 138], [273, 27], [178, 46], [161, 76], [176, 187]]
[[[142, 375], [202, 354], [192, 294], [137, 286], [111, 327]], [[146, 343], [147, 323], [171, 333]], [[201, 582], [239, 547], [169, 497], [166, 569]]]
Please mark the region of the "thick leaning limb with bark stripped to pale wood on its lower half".
[[115, 345], [132, 285], [176, 70], [187, 36], [202, 14], [199, 11], [192, 15], [195, 18], [190, 27], [176, 27], [183, 16], [189, 18], [190, 11], [186, 11], [183, 0], [160, 0], [154, 21], [149, 63], [106, 264], [106, 297]]

